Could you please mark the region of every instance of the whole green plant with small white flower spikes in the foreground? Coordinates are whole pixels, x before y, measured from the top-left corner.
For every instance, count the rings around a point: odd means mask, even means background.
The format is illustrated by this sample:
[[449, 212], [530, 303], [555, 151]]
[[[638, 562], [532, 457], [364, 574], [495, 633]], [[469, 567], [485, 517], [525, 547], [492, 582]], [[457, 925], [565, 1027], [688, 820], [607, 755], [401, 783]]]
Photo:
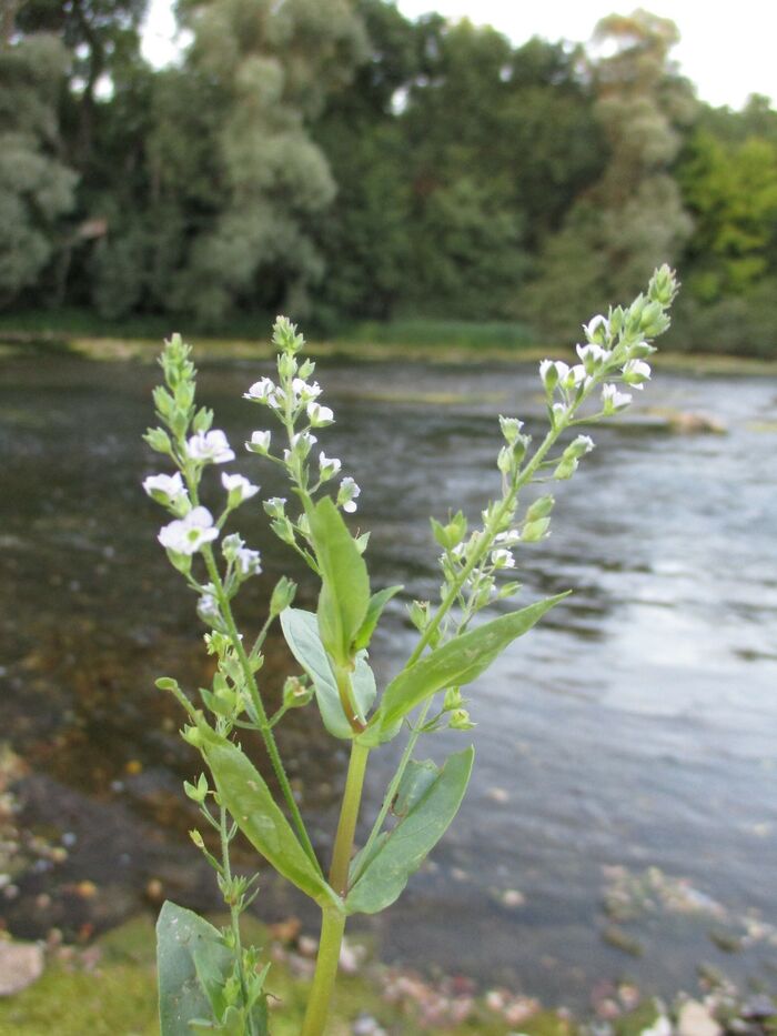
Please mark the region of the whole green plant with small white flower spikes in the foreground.
[[[201, 755], [205, 771], [185, 783], [186, 795], [218, 835], [219, 855], [199, 831], [194, 844], [213, 866], [231, 923], [218, 931], [190, 911], [165, 903], [158, 924], [160, 1019], [163, 1036], [211, 1030], [262, 1036], [268, 1028], [269, 965], [241, 939], [241, 914], [256, 895], [256, 876], [235, 874], [230, 845], [241, 832], [280, 875], [310, 896], [322, 912], [321, 939], [303, 1036], [325, 1030], [346, 918], [376, 913], [402, 893], [410, 876], [453, 821], [472, 771], [472, 746], [442, 766], [414, 758], [418, 740], [443, 727], [466, 732], [474, 724], [462, 688], [480, 676], [516, 637], [526, 633], [565, 594], [537, 601], [496, 618], [475, 622], [496, 600], [517, 594], [504, 581], [515, 567], [515, 552], [548, 535], [554, 499], [541, 495], [528, 506], [522, 492], [531, 483], [569, 479], [594, 447], [583, 424], [623, 411], [632, 401], [622, 386], [640, 390], [650, 378], [650, 340], [669, 325], [667, 311], [677, 291], [674, 273], [663, 266], [647, 294], [627, 309], [610, 309], [584, 325], [573, 366], [545, 360], [539, 365], [549, 428], [534, 445], [516, 418], [500, 418], [503, 443], [496, 464], [501, 495], [490, 501], [471, 529], [458, 511], [447, 521], [432, 519], [442, 553], [440, 600], [413, 601], [410, 617], [418, 632], [413, 652], [379, 698], [369, 647], [386, 603], [402, 586], [373, 591], [365, 563], [369, 534], [354, 536], [343, 513], [357, 509], [360, 487], [342, 463], [317, 452], [314, 430], [334, 413], [319, 402], [314, 364], [303, 359], [304, 339], [285, 318], [273, 329], [278, 381], [262, 378], [245, 399], [263, 409], [274, 428], [251, 434], [245, 447], [281, 469], [293, 504], [283, 497], [263, 502], [275, 535], [302, 557], [320, 583], [316, 612], [294, 607], [295, 584], [283, 576], [269, 601], [264, 623], [253, 640], [236, 625], [232, 601], [243, 583], [261, 572], [259, 552], [238, 533], [223, 535], [232, 513], [259, 493], [244, 475], [221, 474], [225, 494], [214, 517], [200, 502], [209, 469], [234, 460], [225, 434], [212, 428], [213, 413], [195, 405], [195, 371], [180, 335], [161, 356], [164, 384], [154, 390], [161, 425], [147, 443], [168, 456], [172, 475], [148, 477], [145, 492], [170, 513], [159, 541], [173, 566], [198, 597], [196, 611], [209, 627], [205, 646], [215, 660], [210, 688], [200, 691], [201, 707], [165, 677], [158, 686], [172, 692], [188, 723], [182, 732]], [[595, 402], [598, 400], [598, 402]], [[593, 405], [592, 405], [593, 404]], [[264, 421], [262, 423], [265, 423]], [[280, 432], [282, 444], [274, 447]], [[572, 432], [572, 434], [568, 434]], [[268, 712], [260, 672], [271, 625], [280, 622], [302, 673], [290, 676], [280, 707]], [[294, 798], [274, 730], [285, 714], [315, 702], [327, 732], [351, 743], [351, 756], [334, 851], [325, 873]], [[354, 855], [354, 833], [370, 754], [407, 732], [396, 772], [365, 844]], [[278, 785], [275, 795], [241, 746], [259, 734]]]

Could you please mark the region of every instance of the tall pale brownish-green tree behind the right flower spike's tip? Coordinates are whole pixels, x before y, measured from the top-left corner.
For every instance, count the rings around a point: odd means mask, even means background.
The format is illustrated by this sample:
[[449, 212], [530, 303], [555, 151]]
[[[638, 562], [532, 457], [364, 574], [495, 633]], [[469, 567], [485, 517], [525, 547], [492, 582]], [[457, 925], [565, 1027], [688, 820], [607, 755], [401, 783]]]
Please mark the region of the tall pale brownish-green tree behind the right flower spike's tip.
[[591, 74], [607, 158], [599, 180], [547, 241], [526, 298], [547, 333], [571, 334], [582, 306], [606, 309], [614, 298], [636, 292], [690, 235], [692, 220], [672, 175], [678, 125], [694, 111], [688, 84], [668, 62], [677, 39], [672, 21], [642, 10], [597, 26], [595, 46], [606, 57], [592, 63]]

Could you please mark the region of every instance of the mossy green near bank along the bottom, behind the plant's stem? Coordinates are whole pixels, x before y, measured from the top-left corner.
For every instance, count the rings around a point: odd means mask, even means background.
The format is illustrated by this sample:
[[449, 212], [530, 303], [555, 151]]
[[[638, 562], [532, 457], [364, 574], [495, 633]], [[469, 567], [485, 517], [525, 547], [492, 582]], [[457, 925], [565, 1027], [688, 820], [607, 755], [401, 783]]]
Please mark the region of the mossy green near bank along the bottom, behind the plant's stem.
[[[273, 994], [273, 1036], [299, 1034], [307, 997], [311, 953], [304, 941], [284, 942], [259, 923], [246, 934], [269, 947], [273, 959], [268, 988]], [[111, 932], [88, 948], [50, 949], [43, 976], [27, 989], [0, 998], [0, 1036], [158, 1036], [154, 980], [154, 933], [150, 918], [139, 918]], [[361, 959], [354, 953], [355, 959]], [[493, 994], [492, 994], [493, 999]], [[504, 1004], [509, 1002], [503, 996]], [[554, 1012], [524, 1004], [521, 1030], [526, 1036], [573, 1036], [575, 1026]], [[436, 1017], [435, 1017], [436, 1015]], [[466, 1016], [466, 1017], [464, 1017]], [[458, 1017], [458, 1020], [456, 1018]], [[464, 1018], [464, 1020], [462, 1020]], [[341, 975], [331, 1036], [362, 1032], [387, 1036], [423, 1033], [504, 1036], [504, 1009], [488, 1006], [470, 992], [446, 993], [412, 976], [362, 962], [353, 974]]]

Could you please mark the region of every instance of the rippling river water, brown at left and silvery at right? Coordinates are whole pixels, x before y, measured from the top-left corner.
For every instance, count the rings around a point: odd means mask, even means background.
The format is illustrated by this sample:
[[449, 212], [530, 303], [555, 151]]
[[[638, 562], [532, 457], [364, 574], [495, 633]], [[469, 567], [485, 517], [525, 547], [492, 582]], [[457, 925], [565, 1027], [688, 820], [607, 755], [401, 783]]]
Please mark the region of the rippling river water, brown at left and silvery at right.
[[[204, 368], [202, 399], [234, 443], [263, 422], [241, 400], [261, 373]], [[495, 415], [541, 432], [538, 382], [534, 366], [496, 364], [327, 361], [317, 376], [337, 414], [321, 444], [363, 486], [373, 585], [405, 584], [373, 645], [380, 686], [414, 644], [405, 604], [438, 583], [428, 514], [477, 515], [496, 492]], [[27, 766], [24, 873], [0, 914], [23, 935], [83, 935], [160, 888], [206, 907], [179, 792], [195, 761], [153, 690], [162, 673], [208, 675], [192, 600], [155, 542], [161, 512], [140, 491], [159, 470], [140, 443], [157, 371], [38, 356], [6, 360], [0, 381], [0, 740]], [[623, 975], [692, 986], [700, 962], [774, 979], [777, 382], [659, 372], [639, 404], [727, 432], [597, 428], [596, 451], [555, 487], [553, 535], [521, 554], [521, 603], [574, 593], [470, 690], [477, 760], [462, 812], [403, 898], [365, 923], [386, 960], [568, 1004]], [[260, 460], [238, 465], [263, 495], [281, 491]], [[259, 509], [239, 524], [265, 561], [242, 601], [251, 627], [274, 579], [304, 573]], [[312, 605], [313, 587], [300, 593]], [[271, 642], [268, 686], [284, 661]], [[422, 755], [468, 736], [435, 736]], [[344, 753], [314, 710], [282, 742], [325, 852]], [[367, 821], [397, 752], [373, 753]], [[270, 881], [260, 904], [304, 911]]]

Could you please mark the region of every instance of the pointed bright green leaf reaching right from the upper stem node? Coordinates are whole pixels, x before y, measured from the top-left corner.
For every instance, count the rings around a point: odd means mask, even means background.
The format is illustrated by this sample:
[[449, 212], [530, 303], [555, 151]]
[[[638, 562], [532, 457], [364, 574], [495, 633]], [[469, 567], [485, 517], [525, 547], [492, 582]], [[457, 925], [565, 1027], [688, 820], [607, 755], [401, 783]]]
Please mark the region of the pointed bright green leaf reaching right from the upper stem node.
[[537, 601], [448, 641], [398, 673], [386, 687], [369, 730], [394, 726], [425, 698], [444, 687], [462, 687], [480, 676], [512, 641], [522, 636], [567, 594]]

